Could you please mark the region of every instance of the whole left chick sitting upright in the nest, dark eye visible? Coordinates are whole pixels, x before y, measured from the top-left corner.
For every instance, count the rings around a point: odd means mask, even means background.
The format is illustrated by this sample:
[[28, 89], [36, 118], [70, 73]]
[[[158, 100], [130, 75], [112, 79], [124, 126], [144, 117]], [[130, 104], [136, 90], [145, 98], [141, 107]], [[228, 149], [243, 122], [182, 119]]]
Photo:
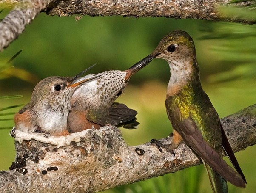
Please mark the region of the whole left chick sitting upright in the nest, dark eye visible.
[[77, 81], [80, 79], [78, 76], [88, 69], [75, 77], [53, 76], [37, 83], [30, 102], [14, 115], [15, 128], [23, 132], [45, 132], [53, 136], [69, 135], [67, 119], [72, 94], [83, 83], [99, 77]]

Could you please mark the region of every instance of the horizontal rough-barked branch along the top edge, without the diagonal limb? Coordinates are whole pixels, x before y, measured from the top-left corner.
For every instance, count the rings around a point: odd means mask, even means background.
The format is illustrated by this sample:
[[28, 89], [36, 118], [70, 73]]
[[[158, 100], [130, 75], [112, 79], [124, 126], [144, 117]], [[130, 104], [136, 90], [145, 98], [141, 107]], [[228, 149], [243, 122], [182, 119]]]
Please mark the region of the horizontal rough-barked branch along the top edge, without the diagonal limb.
[[[49, 6], [47, 13], [58, 16], [164, 16], [242, 22], [235, 15], [225, 18], [219, 13], [218, 8], [227, 6], [228, 2], [229, 0], [60, 0]], [[245, 3], [236, 5], [243, 6]]]

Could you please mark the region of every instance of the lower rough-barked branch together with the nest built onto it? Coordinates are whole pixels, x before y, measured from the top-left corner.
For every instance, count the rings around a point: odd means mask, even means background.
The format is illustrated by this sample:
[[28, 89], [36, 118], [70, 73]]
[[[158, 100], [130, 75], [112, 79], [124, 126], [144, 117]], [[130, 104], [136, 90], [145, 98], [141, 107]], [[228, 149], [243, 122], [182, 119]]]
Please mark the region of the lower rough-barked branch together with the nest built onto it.
[[[256, 105], [225, 117], [222, 125], [234, 152], [254, 145]], [[54, 138], [12, 133], [17, 157], [11, 171], [0, 172], [3, 192], [97, 192], [201, 163], [184, 144], [175, 155], [150, 143], [128, 146], [110, 126]]]

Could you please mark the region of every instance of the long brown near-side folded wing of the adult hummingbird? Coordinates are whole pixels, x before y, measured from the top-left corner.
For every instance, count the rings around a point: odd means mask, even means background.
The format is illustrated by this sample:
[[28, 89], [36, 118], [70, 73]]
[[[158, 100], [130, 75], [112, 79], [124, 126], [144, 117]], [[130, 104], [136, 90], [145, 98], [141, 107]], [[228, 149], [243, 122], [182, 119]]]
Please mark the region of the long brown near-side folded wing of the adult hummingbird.
[[219, 156], [219, 154], [208, 145], [203, 139], [202, 133], [197, 129], [196, 123], [191, 117], [180, 121], [177, 126], [182, 138], [191, 149], [199, 155], [216, 173], [225, 178], [228, 182], [238, 187], [245, 187], [245, 182], [236, 171], [233, 170]]

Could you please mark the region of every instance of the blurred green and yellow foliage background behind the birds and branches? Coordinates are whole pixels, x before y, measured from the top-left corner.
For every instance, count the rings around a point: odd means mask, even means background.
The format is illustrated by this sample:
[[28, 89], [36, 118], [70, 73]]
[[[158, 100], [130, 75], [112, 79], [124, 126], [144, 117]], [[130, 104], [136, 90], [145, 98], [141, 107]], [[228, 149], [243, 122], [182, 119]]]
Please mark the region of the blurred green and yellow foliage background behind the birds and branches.
[[[3, 11], [0, 18], [6, 13]], [[3, 65], [23, 50], [12, 62], [15, 68], [0, 74], [0, 96], [24, 95], [18, 99], [1, 99], [0, 108], [28, 103], [35, 84], [48, 76], [74, 76], [94, 63], [97, 65], [90, 73], [128, 69], [151, 53], [163, 36], [178, 29], [187, 31], [195, 41], [202, 85], [220, 117], [256, 103], [255, 25], [163, 17], [84, 16], [76, 21], [75, 16], [50, 17], [42, 13], [0, 53], [0, 65]], [[165, 112], [169, 76], [167, 63], [156, 59], [131, 78], [125, 93], [117, 100], [138, 112], [139, 128], [122, 129], [128, 144], [163, 138], [171, 132]], [[13, 121], [0, 121], [0, 170], [8, 170], [14, 161], [14, 139], [9, 136], [13, 125]], [[248, 185], [239, 189], [229, 184], [230, 193], [255, 192], [255, 151], [253, 146], [236, 153]], [[208, 193], [211, 189], [200, 165], [105, 192]]]

